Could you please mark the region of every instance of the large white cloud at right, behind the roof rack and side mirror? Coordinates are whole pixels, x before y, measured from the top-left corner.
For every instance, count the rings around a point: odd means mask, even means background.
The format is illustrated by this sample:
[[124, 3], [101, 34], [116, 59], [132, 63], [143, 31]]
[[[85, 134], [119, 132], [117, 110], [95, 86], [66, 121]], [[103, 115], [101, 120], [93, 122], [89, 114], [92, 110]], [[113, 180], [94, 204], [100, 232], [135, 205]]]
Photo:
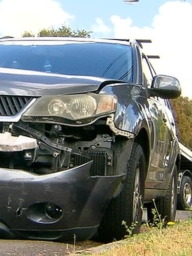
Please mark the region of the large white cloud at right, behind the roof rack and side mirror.
[[157, 73], [177, 77], [183, 95], [192, 98], [192, 4], [168, 1], [159, 8], [151, 27], [133, 26], [128, 17], [112, 16], [115, 37], [152, 39], [145, 50], [148, 54], [159, 54], [152, 61]]

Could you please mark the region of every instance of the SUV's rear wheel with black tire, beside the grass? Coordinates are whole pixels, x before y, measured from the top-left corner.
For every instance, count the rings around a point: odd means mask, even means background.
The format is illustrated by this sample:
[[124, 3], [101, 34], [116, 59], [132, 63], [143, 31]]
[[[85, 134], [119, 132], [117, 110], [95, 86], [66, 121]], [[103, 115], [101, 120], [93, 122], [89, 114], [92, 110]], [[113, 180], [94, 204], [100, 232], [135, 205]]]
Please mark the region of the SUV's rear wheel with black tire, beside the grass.
[[161, 220], [174, 221], [177, 209], [177, 166], [175, 165], [166, 196], [156, 202]]

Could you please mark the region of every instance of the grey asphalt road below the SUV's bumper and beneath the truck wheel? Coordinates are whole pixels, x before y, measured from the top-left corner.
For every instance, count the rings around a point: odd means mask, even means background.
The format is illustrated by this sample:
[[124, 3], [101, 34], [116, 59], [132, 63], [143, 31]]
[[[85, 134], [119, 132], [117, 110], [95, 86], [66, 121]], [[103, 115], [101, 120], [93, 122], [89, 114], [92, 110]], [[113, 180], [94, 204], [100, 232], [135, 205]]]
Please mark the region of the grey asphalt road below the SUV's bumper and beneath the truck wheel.
[[[188, 219], [191, 211], [177, 211], [176, 220]], [[0, 240], [0, 256], [68, 256], [73, 252], [101, 245], [94, 241], [66, 243], [31, 240]]]

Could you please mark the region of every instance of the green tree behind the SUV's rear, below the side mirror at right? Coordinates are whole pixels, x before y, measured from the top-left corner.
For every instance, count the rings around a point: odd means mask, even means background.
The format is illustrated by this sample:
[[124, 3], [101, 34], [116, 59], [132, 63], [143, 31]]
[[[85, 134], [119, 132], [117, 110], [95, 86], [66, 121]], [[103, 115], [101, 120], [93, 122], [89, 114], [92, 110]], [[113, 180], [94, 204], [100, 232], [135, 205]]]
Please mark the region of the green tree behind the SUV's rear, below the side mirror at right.
[[176, 117], [179, 140], [192, 149], [192, 100], [179, 97], [171, 100]]

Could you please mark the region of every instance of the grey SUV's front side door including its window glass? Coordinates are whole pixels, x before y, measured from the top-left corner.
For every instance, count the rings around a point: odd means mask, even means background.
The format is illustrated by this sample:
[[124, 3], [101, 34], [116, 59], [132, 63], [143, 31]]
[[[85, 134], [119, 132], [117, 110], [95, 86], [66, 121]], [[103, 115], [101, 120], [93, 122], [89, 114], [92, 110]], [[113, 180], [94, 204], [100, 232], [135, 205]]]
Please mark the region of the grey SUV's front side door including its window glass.
[[[153, 70], [143, 55], [144, 84], [151, 86]], [[168, 117], [163, 102], [158, 97], [147, 99], [150, 123], [149, 170], [145, 188], [165, 189], [167, 187], [168, 156], [171, 150], [171, 137], [168, 135]]]

